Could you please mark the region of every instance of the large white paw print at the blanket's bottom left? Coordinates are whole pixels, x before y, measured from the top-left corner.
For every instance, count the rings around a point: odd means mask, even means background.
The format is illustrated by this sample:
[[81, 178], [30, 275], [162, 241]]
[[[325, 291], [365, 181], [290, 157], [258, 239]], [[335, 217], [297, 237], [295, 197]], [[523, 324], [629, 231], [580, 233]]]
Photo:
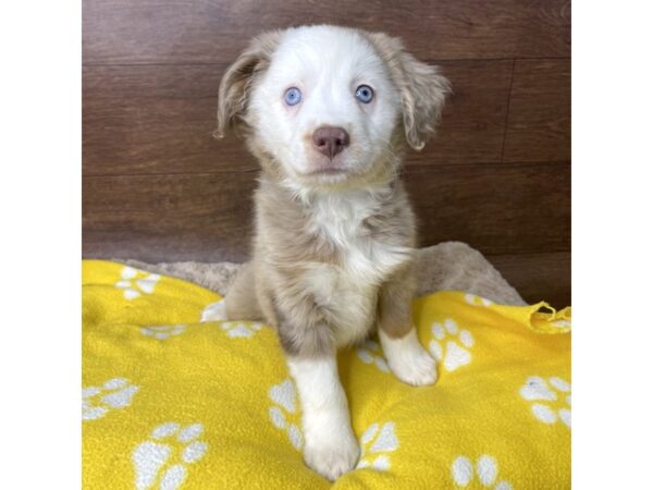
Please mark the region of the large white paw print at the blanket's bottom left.
[[152, 488], [157, 480], [159, 489], [178, 488], [186, 479], [186, 466], [201, 460], [209, 449], [209, 444], [198, 441], [202, 432], [201, 424], [182, 428], [177, 422], [167, 422], [155, 428], [150, 440], [132, 453], [136, 488]]

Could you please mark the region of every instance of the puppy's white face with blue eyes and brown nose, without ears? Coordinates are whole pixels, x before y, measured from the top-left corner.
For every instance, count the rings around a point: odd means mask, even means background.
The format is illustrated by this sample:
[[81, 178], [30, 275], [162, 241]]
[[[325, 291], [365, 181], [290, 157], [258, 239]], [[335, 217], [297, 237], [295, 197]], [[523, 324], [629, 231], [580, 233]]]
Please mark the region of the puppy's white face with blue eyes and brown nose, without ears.
[[284, 173], [305, 184], [374, 170], [399, 122], [401, 98], [373, 47], [355, 30], [286, 32], [254, 85], [254, 132]]

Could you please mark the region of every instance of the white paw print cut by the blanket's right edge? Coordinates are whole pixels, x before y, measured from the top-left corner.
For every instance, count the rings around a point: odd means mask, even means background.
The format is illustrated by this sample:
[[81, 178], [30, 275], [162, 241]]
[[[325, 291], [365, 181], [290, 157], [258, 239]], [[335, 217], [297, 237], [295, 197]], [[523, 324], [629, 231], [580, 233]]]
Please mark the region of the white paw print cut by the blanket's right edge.
[[519, 394], [529, 402], [544, 402], [531, 405], [538, 420], [544, 424], [562, 420], [567, 427], [571, 427], [571, 384], [564, 379], [554, 376], [546, 381], [539, 376], [531, 376]]

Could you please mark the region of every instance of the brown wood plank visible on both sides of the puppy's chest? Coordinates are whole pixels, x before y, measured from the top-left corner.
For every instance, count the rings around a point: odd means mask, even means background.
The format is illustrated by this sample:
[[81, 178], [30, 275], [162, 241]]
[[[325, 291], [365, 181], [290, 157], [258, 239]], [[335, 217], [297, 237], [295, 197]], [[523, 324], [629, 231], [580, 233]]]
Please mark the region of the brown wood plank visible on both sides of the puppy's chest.
[[[86, 176], [84, 255], [242, 261], [255, 176]], [[567, 163], [423, 167], [407, 171], [405, 180], [422, 246], [458, 240], [485, 254], [569, 249]]]

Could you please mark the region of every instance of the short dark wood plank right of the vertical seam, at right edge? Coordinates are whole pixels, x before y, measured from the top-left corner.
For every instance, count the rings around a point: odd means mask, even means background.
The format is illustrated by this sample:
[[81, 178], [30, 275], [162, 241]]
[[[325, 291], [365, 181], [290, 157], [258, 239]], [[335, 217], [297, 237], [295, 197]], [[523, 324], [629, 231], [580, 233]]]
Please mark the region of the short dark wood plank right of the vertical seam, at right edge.
[[517, 60], [504, 161], [571, 158], [570, 60]]

